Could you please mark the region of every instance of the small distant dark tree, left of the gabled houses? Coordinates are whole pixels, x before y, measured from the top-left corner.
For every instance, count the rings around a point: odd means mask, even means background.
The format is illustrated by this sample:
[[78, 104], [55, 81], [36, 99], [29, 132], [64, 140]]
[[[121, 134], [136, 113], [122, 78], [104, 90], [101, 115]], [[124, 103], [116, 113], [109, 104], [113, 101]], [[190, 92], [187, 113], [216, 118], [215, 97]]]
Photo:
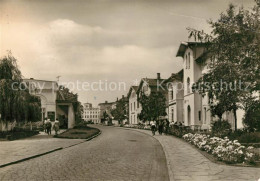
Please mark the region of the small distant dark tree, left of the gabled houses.
[[115, 120], [118, 120], [119, 124], [127, 119], [127, 104], [125, 99], [122, 98], [116, 102], [116, 108], [111, 110], [111, 114]]

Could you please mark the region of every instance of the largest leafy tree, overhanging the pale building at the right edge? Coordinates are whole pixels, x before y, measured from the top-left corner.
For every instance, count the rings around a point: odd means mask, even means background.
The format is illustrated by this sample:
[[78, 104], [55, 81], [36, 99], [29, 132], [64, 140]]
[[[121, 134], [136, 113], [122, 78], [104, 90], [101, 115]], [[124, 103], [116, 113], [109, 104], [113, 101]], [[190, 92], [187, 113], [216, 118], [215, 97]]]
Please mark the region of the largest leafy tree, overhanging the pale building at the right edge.
[[260, 0], [252, 11], [241, 7], [236, 12], [231, 4], [226, 13], [209, 24], [210, 34], [188, 28], [189, 37], [203, 42], [206, 57], [212, 60], [212, 68], [196, 83], [196, 90], [208, 93], [213, 115], [232, 111], [236, 130], [237, 109], [260, 86]]

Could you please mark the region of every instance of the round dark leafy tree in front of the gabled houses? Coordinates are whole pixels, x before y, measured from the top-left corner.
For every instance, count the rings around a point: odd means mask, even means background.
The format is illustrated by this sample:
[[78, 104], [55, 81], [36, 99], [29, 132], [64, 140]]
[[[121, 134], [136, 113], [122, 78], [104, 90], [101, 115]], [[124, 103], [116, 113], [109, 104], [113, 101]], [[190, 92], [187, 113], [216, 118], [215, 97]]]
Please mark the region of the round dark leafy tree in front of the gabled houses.
[[139, 102], [142, 111], [138, 118], [142, 121], [157, 121], [160, 116], [166, 116], [166, 99], [161, 91], [152, 92], [149, 96], [141, 94]]

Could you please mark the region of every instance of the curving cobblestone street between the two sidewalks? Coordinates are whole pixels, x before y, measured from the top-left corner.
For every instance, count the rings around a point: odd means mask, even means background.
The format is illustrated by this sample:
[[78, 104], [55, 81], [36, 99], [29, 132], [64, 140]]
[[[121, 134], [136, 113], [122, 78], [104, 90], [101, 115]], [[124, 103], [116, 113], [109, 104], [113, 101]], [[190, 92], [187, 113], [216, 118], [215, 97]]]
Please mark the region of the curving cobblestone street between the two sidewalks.
[[156, 139], [98, 127], [102, 134], [91, 141], [0, 168], [0, 180], [168, 180], [165, 154]]

